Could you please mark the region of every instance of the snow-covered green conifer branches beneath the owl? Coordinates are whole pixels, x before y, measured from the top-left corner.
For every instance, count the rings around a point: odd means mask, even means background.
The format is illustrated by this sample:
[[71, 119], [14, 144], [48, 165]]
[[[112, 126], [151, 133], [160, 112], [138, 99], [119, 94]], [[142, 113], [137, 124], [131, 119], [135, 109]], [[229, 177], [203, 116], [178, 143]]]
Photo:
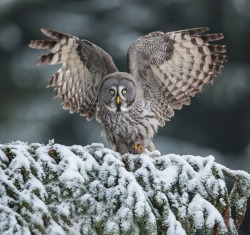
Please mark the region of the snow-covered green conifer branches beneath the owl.
[[0, 145], [3, 235], [237, 234], [249, 196], [250, 175], [212, 156]]

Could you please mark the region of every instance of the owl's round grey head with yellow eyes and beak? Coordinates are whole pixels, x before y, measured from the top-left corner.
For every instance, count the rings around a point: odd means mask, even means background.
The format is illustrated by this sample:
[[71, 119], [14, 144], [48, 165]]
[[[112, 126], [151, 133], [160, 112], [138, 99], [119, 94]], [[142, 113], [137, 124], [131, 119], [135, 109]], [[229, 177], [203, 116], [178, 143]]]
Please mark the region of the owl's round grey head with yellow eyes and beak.
[[126, 111], [136, 98], [136, 85], [128, 73], [107, 75], [99, 90], [100, 101], [113, 112]]

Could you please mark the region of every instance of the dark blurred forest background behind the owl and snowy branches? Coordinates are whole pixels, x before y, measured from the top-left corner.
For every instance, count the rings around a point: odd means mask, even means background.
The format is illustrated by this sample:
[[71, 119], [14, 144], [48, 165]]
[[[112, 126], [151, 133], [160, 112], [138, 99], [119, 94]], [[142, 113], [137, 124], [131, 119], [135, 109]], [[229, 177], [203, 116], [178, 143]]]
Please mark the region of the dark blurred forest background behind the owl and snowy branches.
[[[228, 63], [214, 85], [160, 128], [162, 154], [212, 154], [232, 169], [250, 172], [249, 0], [0, 0], [0, 143], [21, 140], [65, 145], [103, 142], [100, 125], [70, 115], [45, 89], [60, 66], [35, 67], [41, 51], [28, 48], [51, 28], [106, 50], [120, 71], [138, 37], [152, 31], [208, 26], [222, 32]], [[249, 234], [249, 215], [240, 234]]]

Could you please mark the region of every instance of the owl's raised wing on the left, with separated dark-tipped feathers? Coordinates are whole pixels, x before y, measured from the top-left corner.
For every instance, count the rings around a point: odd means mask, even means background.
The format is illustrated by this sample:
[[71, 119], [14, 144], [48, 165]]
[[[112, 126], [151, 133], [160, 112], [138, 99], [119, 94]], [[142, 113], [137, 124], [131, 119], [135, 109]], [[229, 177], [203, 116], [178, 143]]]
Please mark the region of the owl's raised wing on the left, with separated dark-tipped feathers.
[[49, 53], [41, 56], [37, 65], [62, 64], [48, 86], [55, 87], [56, 97], [62, 99], [64, 109], [79, 112], [91, 120], [101, 79], [117, 71], [111, 56], [87, 40], [49, 29], [41, 31], [50, 39], [31, 41], [29, 47], [47, 49]]

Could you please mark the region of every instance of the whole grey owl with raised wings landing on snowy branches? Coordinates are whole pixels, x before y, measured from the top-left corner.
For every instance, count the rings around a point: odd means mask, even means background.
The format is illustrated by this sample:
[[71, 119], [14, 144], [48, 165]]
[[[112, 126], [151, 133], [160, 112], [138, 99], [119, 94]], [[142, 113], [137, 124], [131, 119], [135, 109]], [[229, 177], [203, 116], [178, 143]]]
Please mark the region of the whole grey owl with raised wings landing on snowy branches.
[[113, 150], [142, 153], [154, 150], [158, 126], [190, 97], [212, 83], [226, 61], [225, 45], [209, 44], [221, 33], [203, 34], [207, 27], [163, 33], [152, 32], [133, 42], [127, 54], [128, 72], [118, 72], [111, 56], [75, 36], [41, 29], [48, 40], [29, 46], [47, 49], [37, 65], [62, 63], [50, 78], [64, 109], [102, 124]]

